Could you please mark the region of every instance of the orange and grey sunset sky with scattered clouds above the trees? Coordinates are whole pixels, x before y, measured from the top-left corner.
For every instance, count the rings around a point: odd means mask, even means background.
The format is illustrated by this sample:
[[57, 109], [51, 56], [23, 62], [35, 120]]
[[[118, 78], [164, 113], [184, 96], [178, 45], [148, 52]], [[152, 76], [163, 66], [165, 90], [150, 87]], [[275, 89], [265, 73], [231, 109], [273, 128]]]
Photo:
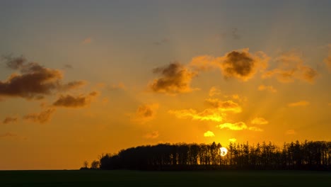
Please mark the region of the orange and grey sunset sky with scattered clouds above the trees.
[[0, 170], [331, 140], [331, 1], [0, 0]]

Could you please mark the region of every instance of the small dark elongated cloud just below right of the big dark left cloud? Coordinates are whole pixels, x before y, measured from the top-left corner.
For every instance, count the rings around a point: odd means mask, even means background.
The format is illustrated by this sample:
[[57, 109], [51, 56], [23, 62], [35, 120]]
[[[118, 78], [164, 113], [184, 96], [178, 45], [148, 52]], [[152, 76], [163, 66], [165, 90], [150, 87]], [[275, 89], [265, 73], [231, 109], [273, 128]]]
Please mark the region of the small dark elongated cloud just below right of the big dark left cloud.
[[93, 91], [87, 96], [71, 96], [67, 95], [60, 95], [57, 101], [54, 101], [52, 104], [53, 106], [57, 107], [66, 107], [66, 108], [81, 108], [83, 106], [88, 105], [91, 103], [91, 99], [96, 96], [98, 93]]

